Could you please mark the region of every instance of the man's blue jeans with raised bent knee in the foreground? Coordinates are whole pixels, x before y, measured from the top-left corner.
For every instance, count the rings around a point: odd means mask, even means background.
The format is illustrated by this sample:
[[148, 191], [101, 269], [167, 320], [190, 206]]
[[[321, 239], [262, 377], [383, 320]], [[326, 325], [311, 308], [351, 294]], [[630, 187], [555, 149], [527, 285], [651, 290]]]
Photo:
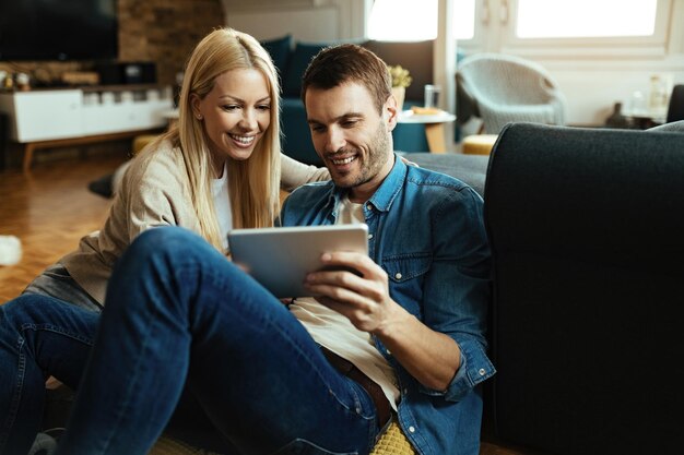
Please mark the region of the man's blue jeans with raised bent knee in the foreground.
[[184, 390], [240, 454], [367, 454], [375, 406], [271, 294], [204, 240], [151, 229], [108, 286], [58, 454], [144, 454]]

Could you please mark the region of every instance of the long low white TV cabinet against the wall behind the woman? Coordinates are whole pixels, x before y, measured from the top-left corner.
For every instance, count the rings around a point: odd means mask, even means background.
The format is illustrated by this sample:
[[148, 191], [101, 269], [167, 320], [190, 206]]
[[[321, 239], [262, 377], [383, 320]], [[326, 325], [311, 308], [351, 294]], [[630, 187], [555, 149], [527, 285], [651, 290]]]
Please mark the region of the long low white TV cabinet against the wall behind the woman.
[[163, 128], [170, 87], [52, 89], [0, 94], [10, 139], [20, 143]]

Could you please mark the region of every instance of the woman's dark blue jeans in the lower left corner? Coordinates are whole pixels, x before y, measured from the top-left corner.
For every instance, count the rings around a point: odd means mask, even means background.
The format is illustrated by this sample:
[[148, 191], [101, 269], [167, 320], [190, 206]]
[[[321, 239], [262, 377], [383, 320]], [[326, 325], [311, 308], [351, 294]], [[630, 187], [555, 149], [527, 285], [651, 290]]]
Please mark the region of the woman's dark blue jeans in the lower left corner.
[[98, 320], [97, 312], [42, 295], [0, 306], [0, 454], [28, 452], [48, 375], [78, 386]]

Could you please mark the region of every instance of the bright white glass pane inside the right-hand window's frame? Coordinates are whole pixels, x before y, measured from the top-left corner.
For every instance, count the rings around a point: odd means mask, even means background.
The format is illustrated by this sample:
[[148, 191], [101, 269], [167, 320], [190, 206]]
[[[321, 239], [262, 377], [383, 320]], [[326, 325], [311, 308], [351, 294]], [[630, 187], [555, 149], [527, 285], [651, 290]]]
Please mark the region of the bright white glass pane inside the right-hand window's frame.
[[520, 38], [650, 36], [658, 0], [518, 0]]

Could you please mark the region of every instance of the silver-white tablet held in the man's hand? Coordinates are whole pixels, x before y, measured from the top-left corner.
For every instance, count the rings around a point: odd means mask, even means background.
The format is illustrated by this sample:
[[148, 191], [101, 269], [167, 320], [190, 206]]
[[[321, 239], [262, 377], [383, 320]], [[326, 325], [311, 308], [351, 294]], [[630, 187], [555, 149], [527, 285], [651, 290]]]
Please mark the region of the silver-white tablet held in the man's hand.
[[368, 226], [233, 229], [228, 232], [228, 247], [233, 261], [275, 297], [312, 297], [304, 288], [304, 278], [322, 268], [321, 254], [333, 251], [368, 254]]

